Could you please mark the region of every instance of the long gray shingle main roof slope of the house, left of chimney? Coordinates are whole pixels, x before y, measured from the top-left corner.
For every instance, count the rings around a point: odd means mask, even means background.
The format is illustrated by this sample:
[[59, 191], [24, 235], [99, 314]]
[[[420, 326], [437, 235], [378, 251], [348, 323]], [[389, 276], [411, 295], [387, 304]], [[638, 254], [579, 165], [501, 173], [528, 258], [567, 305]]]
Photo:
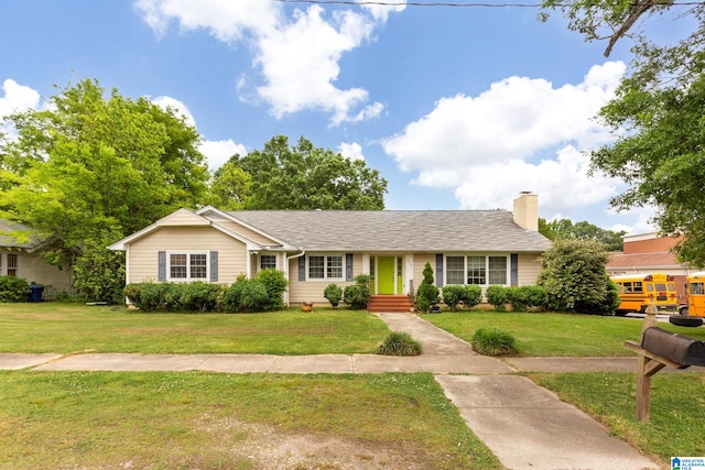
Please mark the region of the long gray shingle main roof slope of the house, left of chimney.
[[307, 251], [541, 252], [551, 242], [505, 210], [243, 210], [228, 212]]

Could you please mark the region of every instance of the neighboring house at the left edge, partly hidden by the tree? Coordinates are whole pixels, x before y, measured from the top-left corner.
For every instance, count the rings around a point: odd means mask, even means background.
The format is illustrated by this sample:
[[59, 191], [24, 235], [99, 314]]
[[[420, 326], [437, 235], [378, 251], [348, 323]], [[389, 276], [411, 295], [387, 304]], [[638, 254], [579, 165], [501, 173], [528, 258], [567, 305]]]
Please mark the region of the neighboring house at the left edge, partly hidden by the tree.
[[0, 276], [22, 277], [44, 286], [44, 298], [72, 292], [73, 270], [44, 262], [51, 241], [37, 238], [31, 228], [0, 219]]

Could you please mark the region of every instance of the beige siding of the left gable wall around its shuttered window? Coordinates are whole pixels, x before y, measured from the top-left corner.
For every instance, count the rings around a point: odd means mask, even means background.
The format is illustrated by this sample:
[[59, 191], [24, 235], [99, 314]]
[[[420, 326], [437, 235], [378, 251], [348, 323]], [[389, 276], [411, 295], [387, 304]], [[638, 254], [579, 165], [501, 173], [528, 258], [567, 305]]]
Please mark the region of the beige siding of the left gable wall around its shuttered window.
[[245, 243], [212, 227], [164, 227], [130, 244], [128, 281], [156, 281], [160, 251], [217, 251], [219, 284], [230, 284], [247, 272]]

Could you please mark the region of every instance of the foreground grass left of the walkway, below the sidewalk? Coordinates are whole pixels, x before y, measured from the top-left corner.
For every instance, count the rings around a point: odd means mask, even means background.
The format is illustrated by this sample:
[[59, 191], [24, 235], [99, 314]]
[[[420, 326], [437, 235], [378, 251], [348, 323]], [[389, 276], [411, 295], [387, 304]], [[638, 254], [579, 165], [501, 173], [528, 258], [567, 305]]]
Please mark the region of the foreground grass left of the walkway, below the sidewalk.
[[248, 441], [288, 436], [335, 436], [417, 468], [502, 468], [425, 373], [0, 371], [0, 383], [3, 469], [253, 469]]

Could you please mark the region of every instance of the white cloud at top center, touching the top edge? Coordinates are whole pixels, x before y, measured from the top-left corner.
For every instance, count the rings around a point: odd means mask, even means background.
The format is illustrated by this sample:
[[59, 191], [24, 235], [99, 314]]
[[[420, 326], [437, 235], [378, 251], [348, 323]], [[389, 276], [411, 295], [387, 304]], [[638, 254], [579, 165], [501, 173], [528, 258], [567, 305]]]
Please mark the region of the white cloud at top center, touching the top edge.
[[249, 91], [253, 89], [276, 118], [313, 109], [329, 113], [332, 125], [370, 119], [381, 112], [381, 103], [368, 105], [366, 89], [336, 86], [339, 61], [343, 54], [371, 41], [372, 33], [390, 12], [403, 7], [365, 6], [359, 12], [336, 10], [324, 18], [325, 11], [314, 4], [306, 10], [295, 9], [290, 19], [284, 17], [281, 4], [272, 0], [135, 3], [158, 34], [165, 34], [175, 20], [183, 31], [206, 29], [228, 44], [248, 41], [254, 52], [253, 65], [263, 81], [249, 85], [249, 80], [239, 77], [241, 99], [253, 102]]

